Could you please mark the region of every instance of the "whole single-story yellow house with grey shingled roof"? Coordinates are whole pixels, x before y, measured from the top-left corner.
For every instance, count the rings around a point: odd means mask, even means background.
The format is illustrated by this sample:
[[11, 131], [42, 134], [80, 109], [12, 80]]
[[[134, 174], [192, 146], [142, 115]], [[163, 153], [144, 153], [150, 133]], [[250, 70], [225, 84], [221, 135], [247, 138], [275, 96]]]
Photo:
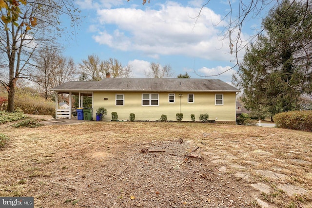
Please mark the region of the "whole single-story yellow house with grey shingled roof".
[[209, 120], [227, 124], [235, 124], [236, 94], [240, 92], [219, 79], [194, 78], [104, 78], [70, 81], [51, 90], [70, 97], [79, 95], [78, 107], [82, 107], [80, 97], [92, 96], [93, 120], [97, 109], [104, 107], [107, 115], [102, 120], [107, 121], [112, 112], [117, 112], [118, 120], [129, 120], [134, 113], [140, 121], [156, 121], [163, 114], [168, 121], [176, 121], [176, 113], [183, 113], [183, 121], [191, 121], [194, 114], [198, 121], [200, 114], [207, 113]]

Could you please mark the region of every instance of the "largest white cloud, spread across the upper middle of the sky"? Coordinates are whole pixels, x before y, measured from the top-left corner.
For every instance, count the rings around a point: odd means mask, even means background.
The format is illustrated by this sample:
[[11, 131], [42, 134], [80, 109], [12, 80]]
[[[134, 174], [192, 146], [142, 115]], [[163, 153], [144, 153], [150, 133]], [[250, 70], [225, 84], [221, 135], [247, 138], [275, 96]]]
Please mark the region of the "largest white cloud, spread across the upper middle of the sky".
[[[185, 55], [209, 60], [230, 60], [229, 41], [220, 41], [215, 25], [221, 17], [204, 7], [181, 6], [166, 1], [159, 10], [144, 7], [98, 10], [98, 23], [105, 31], [94, 35], [96, 42], [122, 51], [141, 51], [147, 56]], [[196, 23], [195, 23], [196, 21]], [[219, 24], [221, 27], [222, 24]], [[109, 27], [114, 27], [113, 32]], [[99, 27], [97, 27], [99, 28]]]

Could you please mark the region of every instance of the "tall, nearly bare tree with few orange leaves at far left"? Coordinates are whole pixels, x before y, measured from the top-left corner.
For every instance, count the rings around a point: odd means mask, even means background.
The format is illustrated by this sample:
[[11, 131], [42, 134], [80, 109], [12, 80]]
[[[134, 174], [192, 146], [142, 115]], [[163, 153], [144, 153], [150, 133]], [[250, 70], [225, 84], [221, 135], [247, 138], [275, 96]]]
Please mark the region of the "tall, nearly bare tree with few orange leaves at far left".
[[14, 110], [20, 78], [30, 79], [31, 58], [44, 45], [56, 44], [62, 34], [61, 15], [77, 20], [72, 0], [1, 0], [0, 50], [4, 59], [0, 83], [8, 92], [7, 111]]

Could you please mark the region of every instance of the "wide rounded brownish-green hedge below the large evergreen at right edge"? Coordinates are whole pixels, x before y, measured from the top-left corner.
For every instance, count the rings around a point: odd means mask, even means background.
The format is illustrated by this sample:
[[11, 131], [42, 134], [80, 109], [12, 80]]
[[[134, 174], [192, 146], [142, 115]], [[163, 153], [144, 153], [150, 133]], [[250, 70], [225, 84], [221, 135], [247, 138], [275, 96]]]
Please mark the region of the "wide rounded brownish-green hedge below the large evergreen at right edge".
[[277, 127], [312, 132], [312, 111], [290, 111], [273, 116]]

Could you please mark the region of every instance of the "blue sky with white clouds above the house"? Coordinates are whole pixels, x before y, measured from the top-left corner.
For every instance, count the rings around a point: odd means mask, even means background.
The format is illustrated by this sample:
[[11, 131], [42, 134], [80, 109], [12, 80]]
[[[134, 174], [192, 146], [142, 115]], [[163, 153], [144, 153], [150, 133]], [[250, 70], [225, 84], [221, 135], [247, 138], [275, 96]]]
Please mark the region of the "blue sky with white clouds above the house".
[[[211, 0], [195, 19], [206, 0], [76, 0], [81, 10], [77, 35], [64, 43], [64, 55], [76, 63], [96, 54], [105, 60], [117, 58], [132, 66], [132, 77], [145, 77], [151, 62], [172, 66], [178, 74], [191, 78], [219, 78], [231, 83], [234, 69], [217, 75], [235, 64], [229, 40], [222, 40], [229, 11], [227, 0]], [[232, 7], [238, 2], [233, 1]], [[249, 38], [259, 28], [261, 19], [249, 19], [242, 37]], [[244, 55], [240, 51], [238, 58]], [[197, 76], [194, 73], [200, 76]]]

